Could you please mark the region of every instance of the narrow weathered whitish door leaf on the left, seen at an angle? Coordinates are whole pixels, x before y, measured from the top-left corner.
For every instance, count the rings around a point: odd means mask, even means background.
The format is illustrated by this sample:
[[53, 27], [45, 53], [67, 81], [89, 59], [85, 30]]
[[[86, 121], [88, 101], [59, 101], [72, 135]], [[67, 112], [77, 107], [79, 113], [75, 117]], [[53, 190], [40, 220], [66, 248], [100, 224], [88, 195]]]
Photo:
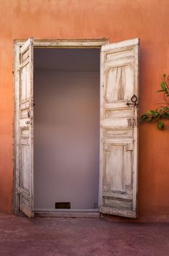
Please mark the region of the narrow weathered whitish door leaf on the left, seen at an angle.
[[20, 48], [20, 211], [34, 217], [34, 39]]

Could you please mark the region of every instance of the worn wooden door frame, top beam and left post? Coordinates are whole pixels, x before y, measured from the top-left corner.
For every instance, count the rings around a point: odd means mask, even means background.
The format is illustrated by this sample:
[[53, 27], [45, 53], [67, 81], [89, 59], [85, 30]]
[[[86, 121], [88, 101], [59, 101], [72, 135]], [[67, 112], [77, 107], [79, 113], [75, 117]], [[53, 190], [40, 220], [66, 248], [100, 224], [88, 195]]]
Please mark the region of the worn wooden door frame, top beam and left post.
[[[13, 75], [14, 75], [14, 126], [13, 126], [13, 140], [14, 140], [14, 178], [13, 178], [13, 199], [12, 211], [13, 214], [20, 213], [19, 205], [19, 184], [20, 184], [20, 47], [26, 40], [14, 40], [14, 61], [13, 61]], [[106, 38], [100, 39], [34, 39], [34, 48], [100, 48], [102, 45], [109, 44]], [[100, 187], [100, 184], [99, 184]], [[98, 192], [98, 197], [100, 192]]]

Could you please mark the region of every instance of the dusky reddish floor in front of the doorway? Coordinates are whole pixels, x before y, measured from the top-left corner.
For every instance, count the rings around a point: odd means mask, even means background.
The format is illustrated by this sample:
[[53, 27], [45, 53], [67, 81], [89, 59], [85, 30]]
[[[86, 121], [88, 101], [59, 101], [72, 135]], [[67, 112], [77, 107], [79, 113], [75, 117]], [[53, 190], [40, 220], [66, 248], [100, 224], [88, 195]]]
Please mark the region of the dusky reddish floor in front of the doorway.
[[1, 256], [169, 255], [169, 224], [0, 215]]

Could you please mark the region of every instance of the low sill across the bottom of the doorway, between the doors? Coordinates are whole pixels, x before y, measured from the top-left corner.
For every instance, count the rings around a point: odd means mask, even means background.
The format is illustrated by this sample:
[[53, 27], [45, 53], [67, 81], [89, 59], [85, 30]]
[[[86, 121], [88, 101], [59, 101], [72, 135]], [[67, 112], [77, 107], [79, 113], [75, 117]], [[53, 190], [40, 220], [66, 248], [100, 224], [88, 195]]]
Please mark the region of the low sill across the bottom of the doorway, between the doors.
[[[69, 211], [68, 211], [69, 210]], [[73, 211], [72, 211], [73, 210]], [[64, 209], [64, 210], [46, 210], [34, 211], [35, 217], [68, 217], [68, 218], [98, 218], [100, 212], [98, 209]]]

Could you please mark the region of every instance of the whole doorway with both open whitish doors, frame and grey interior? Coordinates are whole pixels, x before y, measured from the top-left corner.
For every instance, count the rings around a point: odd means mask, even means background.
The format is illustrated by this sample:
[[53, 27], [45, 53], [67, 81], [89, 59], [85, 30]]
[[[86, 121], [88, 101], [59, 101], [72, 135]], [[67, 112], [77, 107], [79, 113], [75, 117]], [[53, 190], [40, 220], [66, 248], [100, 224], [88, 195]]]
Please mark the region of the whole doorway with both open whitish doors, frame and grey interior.
[[15, 214], [137, 217], [138, 56], [138, 38], [15, 40]]

